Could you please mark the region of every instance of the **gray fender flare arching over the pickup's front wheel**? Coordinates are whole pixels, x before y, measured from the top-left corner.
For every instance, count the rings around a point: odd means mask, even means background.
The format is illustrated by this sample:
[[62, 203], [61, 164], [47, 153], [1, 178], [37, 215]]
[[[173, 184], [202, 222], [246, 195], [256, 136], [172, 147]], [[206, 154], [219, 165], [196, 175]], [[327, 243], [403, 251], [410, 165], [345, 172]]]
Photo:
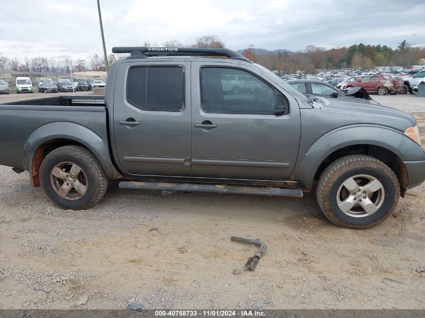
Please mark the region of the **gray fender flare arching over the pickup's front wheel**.
[[311, 189], [316, 171], [323, 160], [336, 150], [347, 146], [379, 146], [403, 160], [405, 155], [398, 147], [404, 137], [400, 131], [378, 125], [340, 127], [319, 137], [304, 154], [298, 155], [293, 176], [303, 189]]

